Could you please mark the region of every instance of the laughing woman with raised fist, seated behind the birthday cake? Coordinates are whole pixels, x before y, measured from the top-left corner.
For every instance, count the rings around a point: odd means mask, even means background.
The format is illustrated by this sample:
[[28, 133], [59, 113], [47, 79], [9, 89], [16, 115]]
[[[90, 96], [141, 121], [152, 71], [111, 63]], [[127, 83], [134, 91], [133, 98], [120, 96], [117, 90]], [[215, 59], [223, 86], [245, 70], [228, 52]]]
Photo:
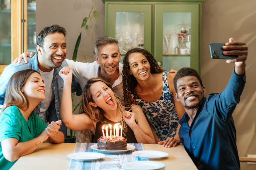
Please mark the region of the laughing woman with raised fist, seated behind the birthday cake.
[[60, 116], [68, 128], [76, 131], [89, 129], [93, 132], [93, 142], [97, 142], [102, 136], [103, 125], [111, 124], [113, 128], [114, 124], [120, 123], [128, 143], [155, 143], [143, 111], [135, 105], [130, 109], [132, 112], [127, 111], [120, 97], [101, 78], [88, 81], [83, 90], [81, 114], [72, 114], [72, 70], [69, 66], [64, 67], [59, 75], [64, 80]]

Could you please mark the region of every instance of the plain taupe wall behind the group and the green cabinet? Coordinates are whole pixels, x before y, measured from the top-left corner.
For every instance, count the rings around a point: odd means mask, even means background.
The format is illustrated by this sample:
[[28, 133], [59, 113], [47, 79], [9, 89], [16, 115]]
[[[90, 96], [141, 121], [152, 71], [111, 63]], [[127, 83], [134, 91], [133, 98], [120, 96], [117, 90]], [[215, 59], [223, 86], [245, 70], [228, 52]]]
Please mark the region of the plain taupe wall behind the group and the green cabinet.
[[[95, 10], [100, 19], [93, 21], [94, 41], [104, 36], [104, 4], [95, 0]], [[37, 33], [40, 29], [59, 24], [67, 30], [67, 58], [71, 59], [76, 39], [80, 33], [82, 19], [88, 16], [92, 0], [37, 0]], [[225, 43], [229, 37], [246, 42], [249, 54], [246, 78], [241, 102], [237, 105], [233, 118], [236, 126], [239, 156], [256, 154], [256, 1], [206, 0], [202, 5], [201, 76], [207, 95], [221, 92], [232, 73], [233, 64], [223, 60], [213, 60], [209, 54], [210, 43]], [[77, 61], [84, 62], [83, 55], [91, 55], [93, 43], [90, 31], [82, 31]], [[87, 57], [87, 61], [92, 59]], [[241, 169], [256, 169], [255, 165], [241, 163]]]

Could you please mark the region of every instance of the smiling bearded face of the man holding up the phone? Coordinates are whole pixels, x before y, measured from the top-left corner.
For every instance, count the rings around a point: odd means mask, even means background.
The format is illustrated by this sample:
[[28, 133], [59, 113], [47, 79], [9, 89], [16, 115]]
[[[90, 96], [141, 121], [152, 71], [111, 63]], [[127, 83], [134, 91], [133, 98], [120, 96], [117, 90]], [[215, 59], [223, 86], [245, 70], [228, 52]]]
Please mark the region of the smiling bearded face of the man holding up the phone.
[[198, 108], [205, 95], [205, 88], [195, 76], [178, 79], [177, 90], [176, 100], [180, 101], [185, 109]]

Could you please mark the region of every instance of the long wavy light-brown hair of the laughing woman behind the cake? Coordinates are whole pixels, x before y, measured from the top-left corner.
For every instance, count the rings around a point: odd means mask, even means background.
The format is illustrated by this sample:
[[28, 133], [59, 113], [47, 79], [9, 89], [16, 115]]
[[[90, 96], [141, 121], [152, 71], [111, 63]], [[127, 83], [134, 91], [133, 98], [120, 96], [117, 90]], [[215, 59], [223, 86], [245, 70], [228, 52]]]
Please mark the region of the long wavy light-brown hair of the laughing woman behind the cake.
[[[118, 116], [119, 116], [119, 118], [121, 118], [121, 125], [123, 126], [123, 130], [127, 131], [127, 125], [124, 122], [124, 120], [122, 119], [122, 117], [123, 117], [123, 112], [125, 110], [129, 110], [130, 108], [126, 108], [124, 106], [123, 100], [113, 90], [111, 85], [108, 82], [106, 82], [105, 80], [103, 80], [102, 78], [99, 78], [99, 77], [92, 78], [87, 82], [86, 86], [83, 89], [82, 104], [81, 104], [81, 107], [80, 107], [80, 113], [87, 114], [93, 121], [96, 121], [96, 122], [101, 121], [102, 123], [105, 123], [106, 120], [105, 121], [102, 120], [102, 118], [104, 116], [103, 115], [103, 113], [104, 113], [103, 109], [100, 108], [99, 106], [94, 107], [94, 106], [89, 104], [89, 102], [94, 102], [93, 96], [92, 96], [91, 91], [90, 91], [90, 88], [94, 83], [99, 82], [99, 81], [105, 83], [113, 91], [114, 97], [115, 97], [116, 102], [117, 102]], [[80, 142], [92, 142], [92, 133], [93, 132], [91, 130], [88, 130], [88, 129], [80, 131], [80, 134], [79, 134]]]

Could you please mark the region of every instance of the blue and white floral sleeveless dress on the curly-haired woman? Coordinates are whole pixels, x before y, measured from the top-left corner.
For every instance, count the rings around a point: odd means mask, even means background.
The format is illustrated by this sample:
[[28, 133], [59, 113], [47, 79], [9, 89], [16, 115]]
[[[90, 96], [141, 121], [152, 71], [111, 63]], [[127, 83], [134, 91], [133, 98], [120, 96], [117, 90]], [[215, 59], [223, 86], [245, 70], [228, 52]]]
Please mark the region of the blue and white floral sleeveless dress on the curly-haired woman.
[[146, 102], [137, 93], [132, 95], [134, 102], [150, 116], [149, 121], [161, 141], [167, 137], [175, 136], [179, 120], [175, 109], [174, 96], [168, 86], [167, 74], [168, 72], [164, 72], [162, 75], [162, 95], [157, 101]]

